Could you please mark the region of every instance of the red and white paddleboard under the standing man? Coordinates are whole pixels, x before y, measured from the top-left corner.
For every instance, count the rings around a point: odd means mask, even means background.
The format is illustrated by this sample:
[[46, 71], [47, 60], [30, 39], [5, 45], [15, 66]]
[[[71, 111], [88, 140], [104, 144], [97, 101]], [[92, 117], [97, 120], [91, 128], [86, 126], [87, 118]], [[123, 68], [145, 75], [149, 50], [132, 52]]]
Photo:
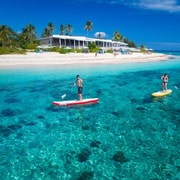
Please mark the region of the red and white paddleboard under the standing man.
[[70, 101], [53, 101], [52, 104], [58, 106], [72, 106], [72, 105], [81, 105], [81, 104], [91, 104], [91, 103], [98, 103], [98, 98], [91, 98], [91, 99], [83, 99], [83, 100], [70, 100]]

